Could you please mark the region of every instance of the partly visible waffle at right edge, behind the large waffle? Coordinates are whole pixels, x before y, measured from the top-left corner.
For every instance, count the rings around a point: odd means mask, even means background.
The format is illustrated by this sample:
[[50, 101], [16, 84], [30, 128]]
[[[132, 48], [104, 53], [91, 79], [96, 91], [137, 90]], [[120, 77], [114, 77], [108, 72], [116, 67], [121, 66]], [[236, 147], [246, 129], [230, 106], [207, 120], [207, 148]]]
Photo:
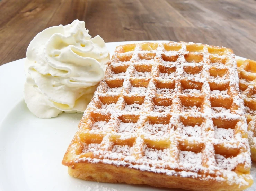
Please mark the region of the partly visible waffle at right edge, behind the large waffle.
[[237, 60], [239, 89], [245, 104], [251, 160], [256, 161], [256, 62]]

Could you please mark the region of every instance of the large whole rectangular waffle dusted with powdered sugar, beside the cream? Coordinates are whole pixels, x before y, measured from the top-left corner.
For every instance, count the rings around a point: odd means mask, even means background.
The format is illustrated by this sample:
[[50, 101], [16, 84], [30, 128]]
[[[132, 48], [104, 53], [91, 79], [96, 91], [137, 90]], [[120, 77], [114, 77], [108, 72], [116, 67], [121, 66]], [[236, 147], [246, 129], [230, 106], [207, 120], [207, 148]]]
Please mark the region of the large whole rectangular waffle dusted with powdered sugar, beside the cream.
[[118, 46], [62, 164], [98, 182], [243, 190], [250, 148], [231, 49]]

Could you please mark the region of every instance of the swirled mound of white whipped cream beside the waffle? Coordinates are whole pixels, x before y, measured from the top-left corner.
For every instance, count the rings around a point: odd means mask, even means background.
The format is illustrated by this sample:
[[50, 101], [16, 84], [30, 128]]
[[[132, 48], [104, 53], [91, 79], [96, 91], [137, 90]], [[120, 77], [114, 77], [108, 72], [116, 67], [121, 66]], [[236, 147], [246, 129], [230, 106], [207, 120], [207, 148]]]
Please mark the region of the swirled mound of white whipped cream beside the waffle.
[[83, 21], [43, 30], [30, 42], [25, 60], [29, 110], [39, 118], [84, 112], [108, 61], [104, 40], [91, 38]]

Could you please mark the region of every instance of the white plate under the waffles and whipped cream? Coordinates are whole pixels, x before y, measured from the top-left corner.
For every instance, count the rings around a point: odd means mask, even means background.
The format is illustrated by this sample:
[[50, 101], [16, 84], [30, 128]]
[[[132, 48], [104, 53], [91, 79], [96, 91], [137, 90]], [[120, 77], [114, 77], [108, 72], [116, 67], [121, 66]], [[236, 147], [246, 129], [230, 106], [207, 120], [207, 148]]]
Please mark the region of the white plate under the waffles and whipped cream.
[[[106, 45], [112, 54], [120, 44], [137, 42]], [[82, 114], [64, 113], [56, 118], [40, 119], [30, 113], [23, 100], [23, 64], [24, 59], [20, 59], [0, 66], [0, 191], [179, 190], [97, 183], [70, 177], [61, 161]], [[256, 163], [251, 173], [256, 181]], [[256, 190], [256, 184], [253, 187], [247, 190]]]

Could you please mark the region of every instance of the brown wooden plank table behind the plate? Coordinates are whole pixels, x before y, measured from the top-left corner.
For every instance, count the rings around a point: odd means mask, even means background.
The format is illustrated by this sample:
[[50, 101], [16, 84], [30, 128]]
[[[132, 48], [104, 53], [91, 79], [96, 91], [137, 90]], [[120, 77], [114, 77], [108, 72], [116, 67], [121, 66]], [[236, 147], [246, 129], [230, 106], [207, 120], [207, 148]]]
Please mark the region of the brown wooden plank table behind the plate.
[[86, 22], [105, 42], [172, 40], [256, 60], [255, 0], [0, 0], [0, 65], [26, 56], [45, 28]]

